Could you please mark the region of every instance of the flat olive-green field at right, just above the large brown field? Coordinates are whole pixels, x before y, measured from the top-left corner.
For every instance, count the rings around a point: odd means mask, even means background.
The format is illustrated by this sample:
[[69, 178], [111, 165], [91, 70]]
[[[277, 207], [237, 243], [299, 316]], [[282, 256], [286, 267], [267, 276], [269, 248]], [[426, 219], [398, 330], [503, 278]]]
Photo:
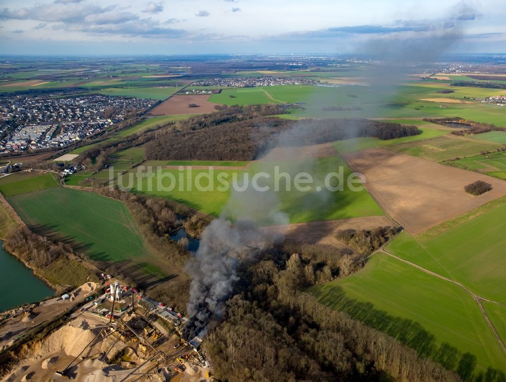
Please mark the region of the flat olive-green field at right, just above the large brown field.
[[389, 146], [389, 150], [399, 154], [428, 159], [435, 162], [453, 158], [471, 157], [482, 151], [496, 150], [502, 145], [493, 142], [444, 136], [424, 141], [407, 142]]

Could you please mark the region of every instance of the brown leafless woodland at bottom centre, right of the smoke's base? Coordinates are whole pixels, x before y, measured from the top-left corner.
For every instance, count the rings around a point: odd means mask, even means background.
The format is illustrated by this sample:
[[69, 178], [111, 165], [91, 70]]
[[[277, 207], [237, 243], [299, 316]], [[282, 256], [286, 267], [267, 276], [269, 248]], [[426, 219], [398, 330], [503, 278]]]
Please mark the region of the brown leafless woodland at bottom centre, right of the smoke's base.
[[[241, 266], [235, 295], [203, 343], [219, 380], [462, 380], [427, 354], [322, 305], [307, 292], [307, 275], [308, 265], [332, 268], [327, 254], [306, 246], [298, 251], [305, 255], [290, 255], [297, 245], [290, 246]], [[347, 256], [329, 260], [338, 265]]]

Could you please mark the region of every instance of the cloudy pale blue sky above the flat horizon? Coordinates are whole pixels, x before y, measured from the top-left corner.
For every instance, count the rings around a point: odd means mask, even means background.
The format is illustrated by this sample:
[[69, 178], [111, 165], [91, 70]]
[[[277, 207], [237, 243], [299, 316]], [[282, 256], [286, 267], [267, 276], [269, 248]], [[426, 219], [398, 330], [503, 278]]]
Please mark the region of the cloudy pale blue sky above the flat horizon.
[[[0, 54], [506, 52], [506, 6], [424, 0], [0, 0]], [[399, 45], [400, 44], [400, 45]]]

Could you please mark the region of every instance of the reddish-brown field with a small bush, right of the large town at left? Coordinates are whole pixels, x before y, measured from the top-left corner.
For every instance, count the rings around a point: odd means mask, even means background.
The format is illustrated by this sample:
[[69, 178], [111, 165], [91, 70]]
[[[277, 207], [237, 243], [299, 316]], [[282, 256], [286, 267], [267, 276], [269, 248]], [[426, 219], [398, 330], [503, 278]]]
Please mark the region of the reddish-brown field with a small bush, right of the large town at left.
[[[209, 95], [175, 95], [163, 101], [150, 114], [153, 116], [175, 116], [177, 114], [195, 114], [195, 113], [211, 113], [216, 111], [215, 106], [218, 103], [208, 101]], [[189, 107], [194, 103], [198, 107]]]

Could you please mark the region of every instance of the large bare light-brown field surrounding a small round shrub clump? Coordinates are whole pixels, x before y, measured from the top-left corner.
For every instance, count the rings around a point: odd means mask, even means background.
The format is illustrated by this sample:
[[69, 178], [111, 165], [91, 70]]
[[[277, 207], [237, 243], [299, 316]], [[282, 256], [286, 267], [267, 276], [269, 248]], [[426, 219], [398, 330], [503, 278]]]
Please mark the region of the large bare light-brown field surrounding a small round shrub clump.
[[[381, 148], [344, 154], [352, 170], [365, 175], [365, 187], [378, 204], [411, 234], [506, 195], [506, 182], [466, 170], [447, 167]], [[464, 191], [476, 180], [491, 183], [477, 197]]]

